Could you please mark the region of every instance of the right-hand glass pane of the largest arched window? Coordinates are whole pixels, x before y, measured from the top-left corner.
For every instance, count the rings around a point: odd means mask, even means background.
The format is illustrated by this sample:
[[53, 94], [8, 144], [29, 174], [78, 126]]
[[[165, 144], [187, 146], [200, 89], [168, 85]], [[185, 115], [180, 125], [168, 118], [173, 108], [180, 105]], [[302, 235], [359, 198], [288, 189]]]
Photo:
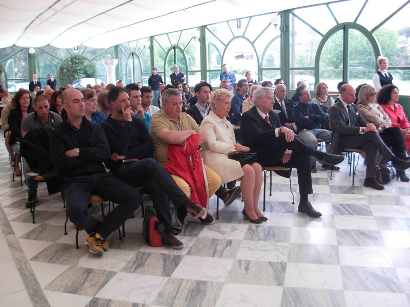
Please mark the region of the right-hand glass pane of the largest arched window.
[[359, 84], [372, 84], [375, 72], [375, 54], [370, 41], [358, 30], [348, 33], [348, 82], [356, 88]]

